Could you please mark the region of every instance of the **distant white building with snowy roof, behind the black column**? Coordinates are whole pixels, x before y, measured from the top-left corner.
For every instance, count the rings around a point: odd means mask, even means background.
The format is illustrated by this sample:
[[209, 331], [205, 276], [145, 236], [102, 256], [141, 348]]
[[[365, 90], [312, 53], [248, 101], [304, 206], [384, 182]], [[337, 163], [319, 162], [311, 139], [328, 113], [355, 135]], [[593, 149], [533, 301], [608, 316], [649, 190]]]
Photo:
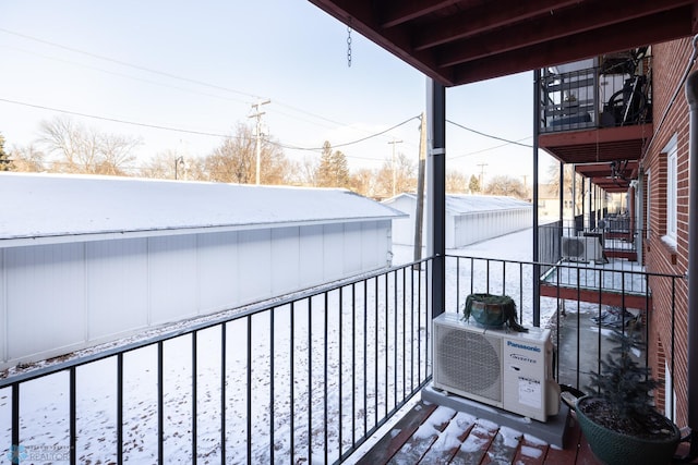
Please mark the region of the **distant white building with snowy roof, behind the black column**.
[[[393, 221], [395, 244], [414, 244], [417, 196], [400, 194], [384, 201], [409, 215]], [[488, 238], [530, 228], [532, 205], [513, 197], [490, 195], [446, 195], [446, 248], [465, 247]], [[425, 217], [424, 217], [425, 218]], [[426, 224], [422, 225], [423, 234]]]

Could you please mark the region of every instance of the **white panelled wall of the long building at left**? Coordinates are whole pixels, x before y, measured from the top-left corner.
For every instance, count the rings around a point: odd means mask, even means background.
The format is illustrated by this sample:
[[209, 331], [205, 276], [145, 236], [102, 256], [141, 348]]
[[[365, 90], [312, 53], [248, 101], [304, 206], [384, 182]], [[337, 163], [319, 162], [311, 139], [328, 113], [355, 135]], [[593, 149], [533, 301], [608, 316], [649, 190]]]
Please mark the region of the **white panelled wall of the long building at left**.
[[390, 220], [0, 248], [0, 369], [387, 265]]

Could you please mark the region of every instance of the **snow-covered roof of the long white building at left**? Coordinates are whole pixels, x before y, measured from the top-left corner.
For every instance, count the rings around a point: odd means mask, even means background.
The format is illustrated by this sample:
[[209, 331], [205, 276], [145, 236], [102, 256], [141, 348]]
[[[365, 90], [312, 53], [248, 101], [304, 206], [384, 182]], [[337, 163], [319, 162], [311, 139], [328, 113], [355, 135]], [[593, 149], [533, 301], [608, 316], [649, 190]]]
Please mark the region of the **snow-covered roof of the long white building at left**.
[[0, 173], [0, 247], [404, 216], [346, 189], [87, 175]]

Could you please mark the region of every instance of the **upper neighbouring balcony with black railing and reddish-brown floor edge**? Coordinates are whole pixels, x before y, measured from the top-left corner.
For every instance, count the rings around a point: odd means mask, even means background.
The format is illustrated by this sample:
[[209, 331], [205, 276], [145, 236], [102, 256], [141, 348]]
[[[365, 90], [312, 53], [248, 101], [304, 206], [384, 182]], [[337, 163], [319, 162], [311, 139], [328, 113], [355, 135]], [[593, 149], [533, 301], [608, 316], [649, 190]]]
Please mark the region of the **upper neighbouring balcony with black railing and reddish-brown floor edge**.
[[565, 163], [601, 163], [600, 180], [617, 178], [609, 163], [636, 162], [652, 135], [650, 61], [643, 47], [543, 70], [540, 147]]

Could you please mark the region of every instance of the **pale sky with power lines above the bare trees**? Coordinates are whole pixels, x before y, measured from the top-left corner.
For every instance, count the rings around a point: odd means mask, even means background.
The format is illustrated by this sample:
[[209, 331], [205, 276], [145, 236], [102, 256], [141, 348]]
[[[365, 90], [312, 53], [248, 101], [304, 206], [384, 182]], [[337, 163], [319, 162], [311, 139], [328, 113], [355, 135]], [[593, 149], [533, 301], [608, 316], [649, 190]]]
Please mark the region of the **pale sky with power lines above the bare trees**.
[[[396, 151], [417, 160], [424, 75], [358, 33], [350, 37], [351, 66], [347, 27], [305, 0], [4, 1], [0, 133], [7, 148], [25, 146], [41, 121], [62, 114], [141, 137], [136, 163], [166, 149], [202, 157], [238, 123], [253, 123], [254, 102], [270, 99], [262, 107], [265, 133], [289, 158], [318, 157], [308, 149], [329, 140], [352, 169], [380, 168], [388, 143], [402, 140]], [[532, 73], [446, 96], [448, 120], [532, 143]], [[447, 157], [448, 169], [527, 175], [530, 184], [530, 148], [448, 124]], [[541, 152], [542, 176], [547, 160]]]

